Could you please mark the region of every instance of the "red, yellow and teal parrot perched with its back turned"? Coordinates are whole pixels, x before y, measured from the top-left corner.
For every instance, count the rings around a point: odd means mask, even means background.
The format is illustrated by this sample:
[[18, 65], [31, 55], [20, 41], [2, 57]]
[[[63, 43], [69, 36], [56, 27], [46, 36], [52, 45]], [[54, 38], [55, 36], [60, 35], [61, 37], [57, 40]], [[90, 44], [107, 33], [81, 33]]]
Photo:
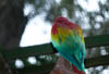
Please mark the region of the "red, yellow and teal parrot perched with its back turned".
[[82, 28], [59, 16], [51, 28], [51, 41], [58, 52], [70, 63], [76, 74], [86, 74], [84, 67], [85, 41]]

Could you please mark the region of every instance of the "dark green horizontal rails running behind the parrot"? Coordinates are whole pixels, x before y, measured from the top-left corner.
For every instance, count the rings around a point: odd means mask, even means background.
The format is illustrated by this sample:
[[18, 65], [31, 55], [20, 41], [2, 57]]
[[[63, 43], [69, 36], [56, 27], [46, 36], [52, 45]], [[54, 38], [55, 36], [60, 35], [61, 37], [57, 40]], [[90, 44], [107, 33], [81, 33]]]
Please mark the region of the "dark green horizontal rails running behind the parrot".
[[[85, 42], [86, 42], [86, 48], [109, 46], [109, 35], [97, 35], [97, 36], [86, 37]], [[15, 59], [24, 59], [34, 55], [53, 54], [57, 52], [52, 48], [51, 42], [32, 47], [22, 47], [22, 48], [17, 47], [13, 48], [11, 51], [1, 49], [0, 51], [3, 54], [4, 59], [8, 61], [13, 61]], [[29, 72], [31, 74], [33, 74], [34, 71], [36, 71], [37, 74], [39, 73], [43, 74], [43, 72], [44, 74], [48, 74], [48, 72], [52, 70], [53, 65], [55, 63], [44, 64], [43, 66], [26, 65], [24, 69], [13, 67], [13, 70], [19, 71], [20, 74], [29, 74]], [[86, 67], [94, 67], [98, 65], [109, 65], [109, 54], [85, 59]], [[45, 69], [44, 66], [47, 66], [47, 69]]]

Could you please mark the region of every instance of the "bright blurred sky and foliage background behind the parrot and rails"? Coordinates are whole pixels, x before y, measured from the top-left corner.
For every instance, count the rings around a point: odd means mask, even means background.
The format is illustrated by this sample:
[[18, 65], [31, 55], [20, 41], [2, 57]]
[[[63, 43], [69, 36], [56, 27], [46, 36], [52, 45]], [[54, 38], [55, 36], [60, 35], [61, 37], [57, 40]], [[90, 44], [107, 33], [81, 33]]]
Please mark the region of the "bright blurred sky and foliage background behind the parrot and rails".
[[[28, 22], [22, 35], [20, 46], [35, 46], [50, 42], [50, 29], [55, 17], [62, 15], [78, 24], [84, 36], [109, 34], [109, 1], [108, 0], [26, 0], [24, 15]], [[101, 49], [101, 50], [97, 50]], [[108, 47], [92, 48], [87, 58], [107, 54]], [[96, 51], [96, 52], [95, 52]], [[88, 55], [89, 54], [89, 55]], [[59, 54], [57, 54], [59, 55]], [[40, 55], [52, 60], [52, 57]], [[31, 64], [40, 62], [35, 57], [29, 57]], [[22, 60], [15, 61], [17, 67], [24, 67]], [[87, 74], [109, 74], [109, 66], [97, 66], [87, 70]]]

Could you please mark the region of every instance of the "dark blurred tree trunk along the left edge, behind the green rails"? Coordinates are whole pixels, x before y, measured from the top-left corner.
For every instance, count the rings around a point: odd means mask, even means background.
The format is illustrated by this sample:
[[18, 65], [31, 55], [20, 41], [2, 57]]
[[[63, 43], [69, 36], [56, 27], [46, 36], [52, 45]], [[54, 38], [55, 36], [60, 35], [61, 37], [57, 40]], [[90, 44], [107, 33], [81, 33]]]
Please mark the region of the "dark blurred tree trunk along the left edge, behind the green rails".
[[[23, 14], [23, 0], [0, 0], [0, 46], [17, 47], [27, 17]], [[0, 47], [0, 50], [2, 49]], [[8, 61], [0, 53], [0, 74], [12, 74]]]

